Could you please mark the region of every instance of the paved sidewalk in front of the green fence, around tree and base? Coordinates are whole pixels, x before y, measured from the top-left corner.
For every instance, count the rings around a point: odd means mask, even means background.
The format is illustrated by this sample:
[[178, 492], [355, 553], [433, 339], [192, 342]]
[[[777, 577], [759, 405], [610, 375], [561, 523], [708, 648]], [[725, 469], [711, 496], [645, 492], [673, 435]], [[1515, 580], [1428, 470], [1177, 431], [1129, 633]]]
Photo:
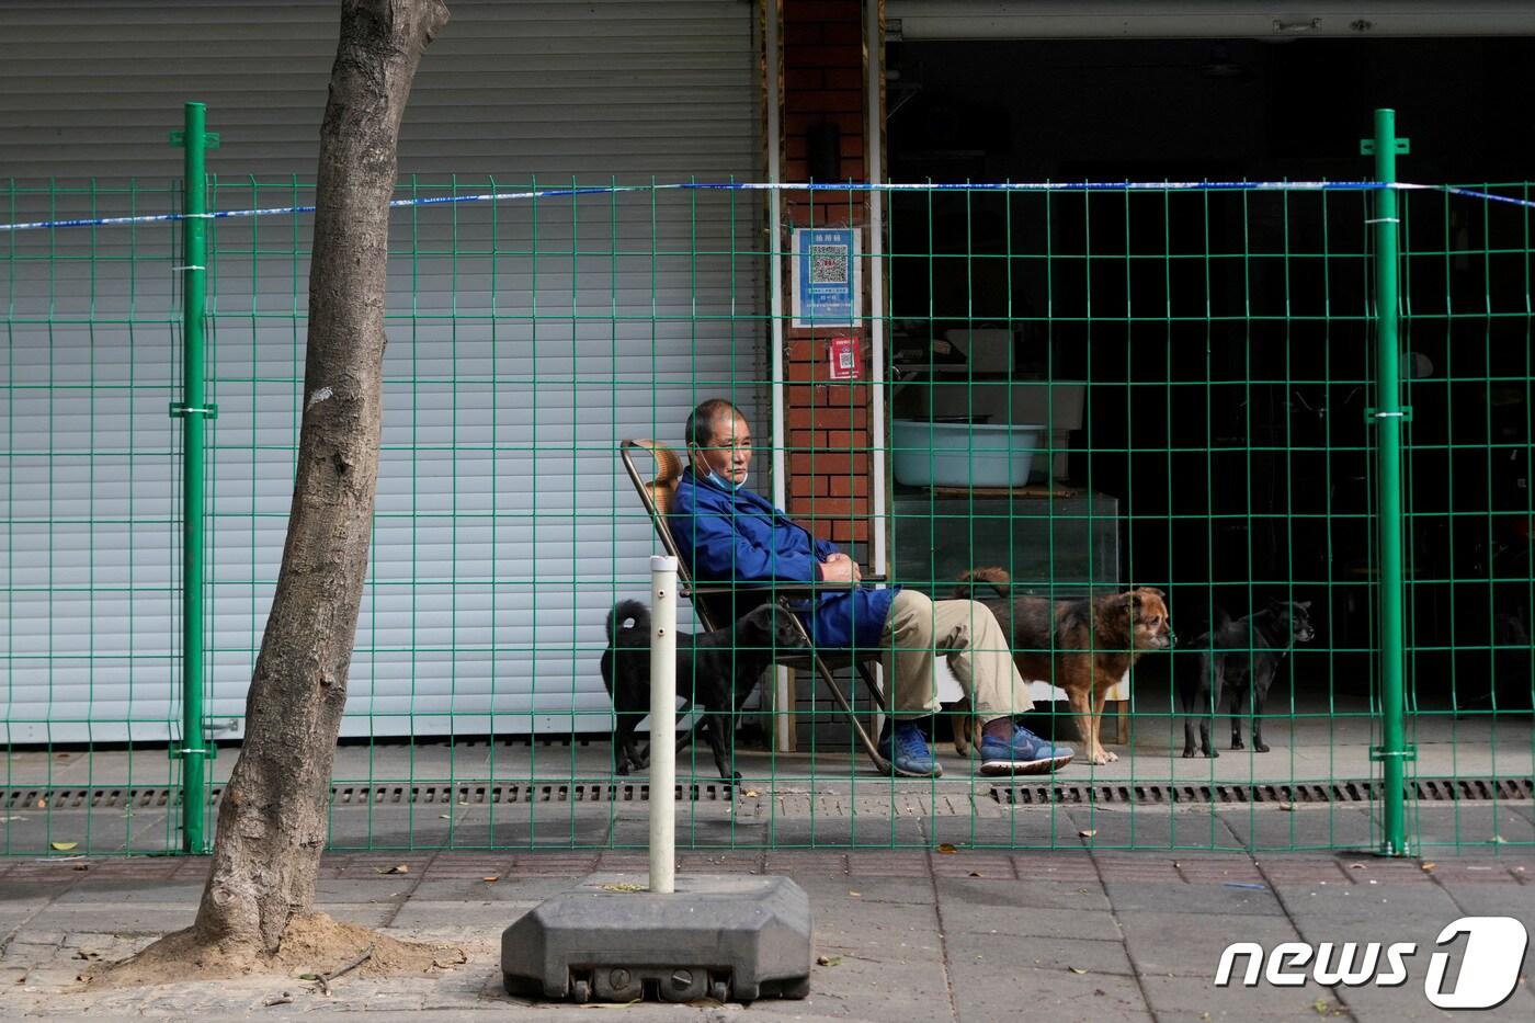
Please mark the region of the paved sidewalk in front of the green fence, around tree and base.
[[[407, 872], [385, 874], [404, 865]], [[580, 1018], [588, 1009], [508, 998], [499, 935], [591, 872], [643, 880], [643, 852], [327, 856], [321, 909], [404, 939], [457, 943], [441, 977], [178, 983], [80, 991], [78, 972], [192, 922], [206, 860], [0, 860], [0, 1015], [370, 1020]], [[1514, 915], [1535, 931], [1535, 856], [1418, 860], [1285, 854], [995, 851], [685, 852], [691, 872], [794, 877], [815, 914], [812, 995], [749, 1008], [634, 1005], [623, 1020], [1317, 1020], [1449, 1018], [1423, 992], [1440, 929]], [[487, 882], [496, 877], [496, 882]], [[1213, 985], [1237, 940], [1417, 942], [1398, 988]], [[1452, 962], [1464, 939], [1452, 946]], [[1514, 995], [1483, 1020], [1535, 1018], [1527, 952]], [[1452, 969], [1454, 974], [1454, 969]], [[272, 1005], [282, 994], [292, 1001]], [[493, 1017], [491, 1014], [499, 1014]]]

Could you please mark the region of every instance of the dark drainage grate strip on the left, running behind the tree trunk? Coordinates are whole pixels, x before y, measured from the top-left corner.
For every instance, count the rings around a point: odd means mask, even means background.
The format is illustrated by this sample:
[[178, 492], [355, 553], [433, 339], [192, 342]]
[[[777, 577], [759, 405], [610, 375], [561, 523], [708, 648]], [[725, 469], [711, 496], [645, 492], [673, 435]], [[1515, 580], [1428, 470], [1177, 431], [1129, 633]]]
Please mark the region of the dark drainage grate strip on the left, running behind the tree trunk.
[[[683, 802], [731, 802], [732, 788], [725, 782], [694, 782], [677, 785], [677, 799]], [[209, 805], [223, 797], [223, 786], [209, 793]], [[330, 802], [333, 808], [344, 806], [410, 806], [459, 805], [479, 806], [488, 803], [643, 803], [651, 799], [646, 782], [516, 782], [471, 785], [333, 785]], [[20, 809], [154, 809], [181, 805], [181, 790], [154, 788], [0, 788], [0, 806], [6, 811]]]

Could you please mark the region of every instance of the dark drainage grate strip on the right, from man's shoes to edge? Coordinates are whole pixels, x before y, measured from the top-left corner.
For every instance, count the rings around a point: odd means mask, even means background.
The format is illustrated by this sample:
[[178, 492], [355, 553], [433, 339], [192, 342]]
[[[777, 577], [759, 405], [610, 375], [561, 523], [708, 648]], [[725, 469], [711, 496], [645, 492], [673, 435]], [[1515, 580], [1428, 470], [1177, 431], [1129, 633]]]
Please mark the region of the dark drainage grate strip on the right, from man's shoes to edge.
[[[995, 785], [992, 799], [1007, 805], [1035, 803], [1223, 803], [1223, 805], [1300, 805], [1371, 803], [1382, 797], [1374, 780], [1331, 783], [1205, 783], [1205, 785]], [[1412, 797], [1429, 803], [1451, 802], [1529, 802], [1535, 799], [1535, 779], [1448, 779], [1412, 782]]]

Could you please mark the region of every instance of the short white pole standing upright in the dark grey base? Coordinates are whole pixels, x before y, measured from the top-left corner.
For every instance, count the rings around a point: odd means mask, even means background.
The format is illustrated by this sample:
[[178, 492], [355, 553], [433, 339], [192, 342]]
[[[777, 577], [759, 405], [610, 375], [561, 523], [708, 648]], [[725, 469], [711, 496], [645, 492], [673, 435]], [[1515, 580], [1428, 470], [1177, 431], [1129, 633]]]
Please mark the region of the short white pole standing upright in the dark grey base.
[[677, 889], [677, 559], [651, 556], [651, 891]]

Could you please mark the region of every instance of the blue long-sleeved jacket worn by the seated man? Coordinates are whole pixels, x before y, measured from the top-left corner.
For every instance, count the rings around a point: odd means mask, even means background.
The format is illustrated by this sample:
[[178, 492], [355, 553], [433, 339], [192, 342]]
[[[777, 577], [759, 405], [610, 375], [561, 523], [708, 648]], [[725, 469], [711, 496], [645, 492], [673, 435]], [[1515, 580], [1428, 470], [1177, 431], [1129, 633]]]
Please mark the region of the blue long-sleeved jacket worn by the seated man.
[[[837, 553], [768, 499], [723, 490], [694, 476], [692, 467], [677, 481], [666, 524], [698, 582], [818, 582], [820, 562]], [[826, 593], [815, 614], [800, 613], [800, 621], [817, 647], [878, 647], [898, 588]]]

